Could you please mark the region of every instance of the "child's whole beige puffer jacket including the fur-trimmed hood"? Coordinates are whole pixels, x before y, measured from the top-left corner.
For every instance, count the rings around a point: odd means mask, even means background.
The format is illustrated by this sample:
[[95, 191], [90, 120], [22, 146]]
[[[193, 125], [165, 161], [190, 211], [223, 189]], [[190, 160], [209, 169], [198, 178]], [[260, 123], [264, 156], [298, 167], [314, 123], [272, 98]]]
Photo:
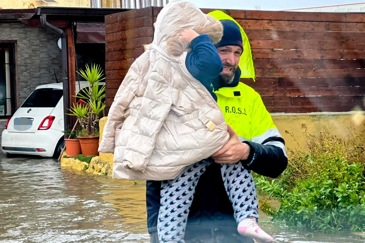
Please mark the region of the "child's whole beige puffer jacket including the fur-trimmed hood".
[[222, 24], [190, 2], [161, 10], [153, 43], [128, 70], [105, 124], [99, 151], [114, 153], [113, 178], [176, 178], [229, 139], [218, 105], [185, 66], [188, 45], [177, 36], [186, 28], [222, 38]]

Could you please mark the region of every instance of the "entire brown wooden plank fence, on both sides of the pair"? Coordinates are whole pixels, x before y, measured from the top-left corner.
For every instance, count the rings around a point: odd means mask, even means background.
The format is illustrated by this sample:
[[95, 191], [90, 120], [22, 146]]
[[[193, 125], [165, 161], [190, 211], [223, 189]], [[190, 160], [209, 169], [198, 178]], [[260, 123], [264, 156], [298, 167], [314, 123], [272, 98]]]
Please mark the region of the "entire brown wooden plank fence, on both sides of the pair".
[[[202, 9], [207, 13], [212, 9]], [[105, 17], [107, 106], [128, 67], [150, 43], [161, 8]], [[224, 10], [244, 28], [251, 44], [256, 82], [269, 112], [364, 110], [365, 16]]]

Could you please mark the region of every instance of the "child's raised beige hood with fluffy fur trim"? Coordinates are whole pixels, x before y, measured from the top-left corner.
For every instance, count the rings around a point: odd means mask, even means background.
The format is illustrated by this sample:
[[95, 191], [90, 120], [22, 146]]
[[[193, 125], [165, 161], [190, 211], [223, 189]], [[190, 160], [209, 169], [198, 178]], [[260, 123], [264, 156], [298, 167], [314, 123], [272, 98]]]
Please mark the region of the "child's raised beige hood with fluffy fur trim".
[[220, 41], [223, 26], [219, 20], [206, 15], [188, 1], [174, 1], [162, 8], [157, 16], [153, 44], [170, 57], [178, 57], [189, 51], [189, 43], [179, 39], [180, 33], [191, 28], [198, 34], [209, 35], [213, 44]]

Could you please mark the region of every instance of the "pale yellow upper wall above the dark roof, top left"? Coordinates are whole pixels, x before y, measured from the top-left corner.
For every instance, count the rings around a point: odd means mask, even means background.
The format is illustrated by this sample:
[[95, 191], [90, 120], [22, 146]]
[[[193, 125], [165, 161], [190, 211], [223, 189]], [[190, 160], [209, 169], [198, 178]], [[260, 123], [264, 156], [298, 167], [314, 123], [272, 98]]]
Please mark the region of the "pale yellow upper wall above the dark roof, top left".
[[37, 7], [91, 7], [90, 0], [55, 0], [58, 3], [45, 3], [36, 0], [1, 0], [0, 7], [5, 8], [37, 8]]

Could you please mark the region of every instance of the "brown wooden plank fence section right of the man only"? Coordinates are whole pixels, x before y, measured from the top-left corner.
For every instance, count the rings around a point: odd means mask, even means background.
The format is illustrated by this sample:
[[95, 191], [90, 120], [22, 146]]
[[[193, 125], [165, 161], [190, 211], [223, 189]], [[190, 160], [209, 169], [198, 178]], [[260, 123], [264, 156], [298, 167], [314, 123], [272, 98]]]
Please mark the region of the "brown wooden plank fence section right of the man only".
[[363, 14], [229, 13], [250, 40], [257, 78], [247, 84], [270, 112], [364, 110]]

